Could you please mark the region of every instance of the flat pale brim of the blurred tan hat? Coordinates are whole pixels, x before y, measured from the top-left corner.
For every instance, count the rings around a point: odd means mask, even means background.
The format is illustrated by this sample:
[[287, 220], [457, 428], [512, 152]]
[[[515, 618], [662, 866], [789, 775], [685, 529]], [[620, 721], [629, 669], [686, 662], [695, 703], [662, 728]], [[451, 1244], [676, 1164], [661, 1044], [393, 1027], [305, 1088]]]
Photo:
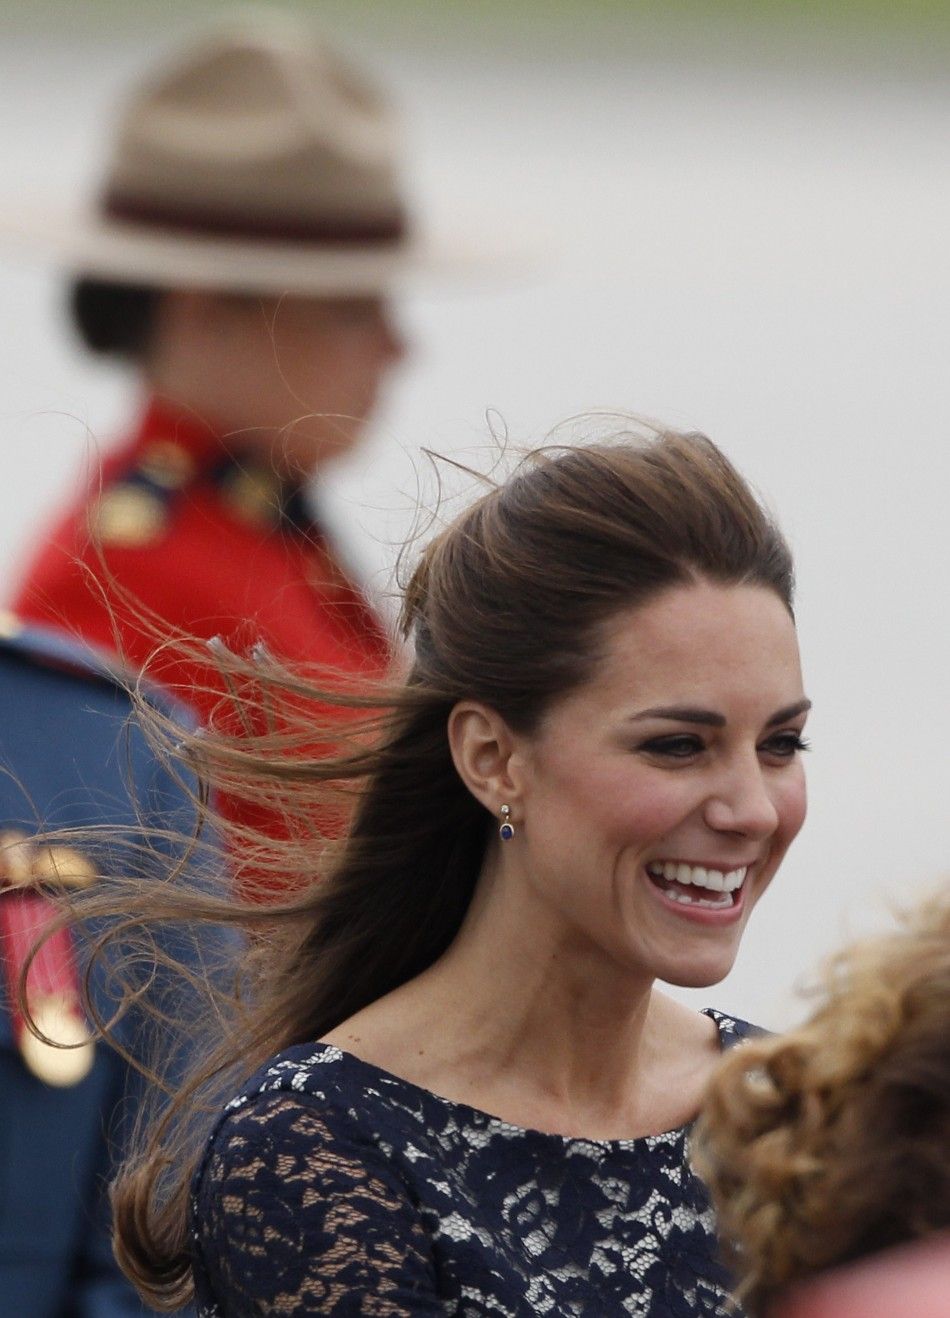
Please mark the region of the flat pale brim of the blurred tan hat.
[[[7, 210], [0, 236], [76, 275], [155, 287], [337, 297], [498, 274], [523, 268], [510, 246], [418, 235], [387, 246], [329, 246], [187, 235], [88, 212]], [[528, 264], [532, 264], [528, 258]]]

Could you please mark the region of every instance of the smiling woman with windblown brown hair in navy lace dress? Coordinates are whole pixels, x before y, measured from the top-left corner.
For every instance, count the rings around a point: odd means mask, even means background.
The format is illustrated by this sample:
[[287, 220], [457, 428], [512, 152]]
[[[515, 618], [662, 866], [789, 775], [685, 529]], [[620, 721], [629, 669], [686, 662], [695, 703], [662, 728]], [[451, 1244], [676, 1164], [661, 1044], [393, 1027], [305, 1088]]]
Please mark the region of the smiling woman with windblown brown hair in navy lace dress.
[[543, 451], [428, 544], [403, 626], [350, 753], [186, 746], [278, 784], [304, 842], [273, 863], [312, 882], [228, 908], [253, 1007], [219, 1004], [195, 1085], [229, 1102], [208, 1131], [192, 1087], [152, 1132], [120, 1257], [208, 1318], [725, 1314], [689, 1131], [748, 1027], [656, 982], [727, 973], [804, 818], [788, 548], [701, 436]]

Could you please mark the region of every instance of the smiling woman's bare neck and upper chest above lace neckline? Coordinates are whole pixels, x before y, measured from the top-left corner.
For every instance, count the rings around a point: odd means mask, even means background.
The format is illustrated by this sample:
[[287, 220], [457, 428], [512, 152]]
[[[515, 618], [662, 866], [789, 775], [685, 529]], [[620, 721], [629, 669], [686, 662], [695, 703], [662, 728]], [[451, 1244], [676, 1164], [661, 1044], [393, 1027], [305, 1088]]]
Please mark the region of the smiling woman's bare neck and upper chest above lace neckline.
[[712, 1021], [519, 904], [481, 883], [449, 950], [328, 1040], [515, 1126], [609, 1139], [689, 1120]]

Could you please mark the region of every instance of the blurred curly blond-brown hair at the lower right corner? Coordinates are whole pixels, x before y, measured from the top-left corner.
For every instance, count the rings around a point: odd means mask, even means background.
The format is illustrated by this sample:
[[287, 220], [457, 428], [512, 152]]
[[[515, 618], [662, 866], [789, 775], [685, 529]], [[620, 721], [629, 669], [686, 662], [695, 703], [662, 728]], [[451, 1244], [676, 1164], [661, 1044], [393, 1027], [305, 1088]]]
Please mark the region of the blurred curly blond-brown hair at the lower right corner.
[[810, 1019], [726, 1056], [696, 1130], [737, 1298], [950, 1226], [950, 898], [827, 966]]

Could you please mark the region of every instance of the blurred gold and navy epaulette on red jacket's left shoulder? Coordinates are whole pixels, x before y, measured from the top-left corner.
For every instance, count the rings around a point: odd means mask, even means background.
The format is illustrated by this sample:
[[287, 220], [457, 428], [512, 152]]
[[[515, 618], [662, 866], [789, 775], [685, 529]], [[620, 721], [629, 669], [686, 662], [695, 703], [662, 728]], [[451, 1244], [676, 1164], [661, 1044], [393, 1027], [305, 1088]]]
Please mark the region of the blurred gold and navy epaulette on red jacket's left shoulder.
[[146, 444], [134, 467], [92, 501], [88, 526], [94, 540], [113, 548], [154, 543], [169, 525], [173, 500], [195, 474], [195, 460], [183, 444], [174, 439]]

